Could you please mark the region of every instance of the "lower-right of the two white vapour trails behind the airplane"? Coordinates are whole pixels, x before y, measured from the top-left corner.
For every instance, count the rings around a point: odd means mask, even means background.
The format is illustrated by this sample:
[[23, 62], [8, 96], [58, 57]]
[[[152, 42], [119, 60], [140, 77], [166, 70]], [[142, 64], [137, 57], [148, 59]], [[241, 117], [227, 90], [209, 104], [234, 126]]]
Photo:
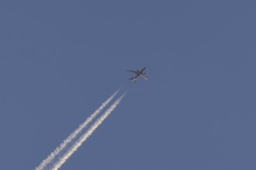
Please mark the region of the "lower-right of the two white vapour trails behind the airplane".
[[78, 139], [78, 141], [76, 141], [74, 145], [72, 145], [71, 148], [61, 158], [59, 158], [59, 161], [54, 164], [53, 168], [51, 168], [52, 170], [57, 170], [61, 168], [61, 165], [63, 165], [67, 161], [67, 159], [70, 158], [71, 155], [73, 155], [74, 151], [77, 151], [78, 148], [82, 145], [82, 143], [84, 143], [84, 141], [93, 133], [93, 131], [95, 131], [99, 127], [99, 125], [102, 124], [102, 122], [106, 119], [106, 117], [108, 117], [109, 114], [111, 114], [111, 112], [115, 110], [115, 108], [118, 106], [118, 104], [121, 102], [121, 100], [125, 95], [126, 93], [123, 93], [123, 95], [119, 97], [109, 107], [109, 109], [106, 110], [106, 112], [102, 114], [102, 116], [99, 117], [97, 121], [95, 121], [94, 124], [92, 124], [92, 126], [88, 129], [88, 131], [86, 131], [85, 134], [82, 134], [82, 136]]

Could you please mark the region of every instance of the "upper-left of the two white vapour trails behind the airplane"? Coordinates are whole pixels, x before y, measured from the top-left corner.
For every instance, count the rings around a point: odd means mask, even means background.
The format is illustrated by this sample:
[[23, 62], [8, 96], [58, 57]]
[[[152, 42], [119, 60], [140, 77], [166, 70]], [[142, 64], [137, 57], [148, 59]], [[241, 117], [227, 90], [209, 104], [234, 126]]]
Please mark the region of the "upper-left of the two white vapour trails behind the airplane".
[[36, 170], [43, 170], [47, 167], [47, 165], [50, 164], [54, 160], [54, 158], [64, 149], [67, 147], [67, 145], [74, 139], [76, 136], [89, 124], [93, 121], [93, 119], [109, 104], [109, 102], [113, 99], [113, 97], [116, 96], [116, 94], [119, 92], [119, 90], [116, 90], [115, 93], [113, 93], [109, 99], [107, 99], [102, 105], [99, 107], [99, 109], [95, 110], [95, 112], [88, 117], [82, 124], [79, 125], [79, 127], [70, 134], [62, 143], [59, 145], [46, 159], [41, 162], [41, 164], [36, 167]]

